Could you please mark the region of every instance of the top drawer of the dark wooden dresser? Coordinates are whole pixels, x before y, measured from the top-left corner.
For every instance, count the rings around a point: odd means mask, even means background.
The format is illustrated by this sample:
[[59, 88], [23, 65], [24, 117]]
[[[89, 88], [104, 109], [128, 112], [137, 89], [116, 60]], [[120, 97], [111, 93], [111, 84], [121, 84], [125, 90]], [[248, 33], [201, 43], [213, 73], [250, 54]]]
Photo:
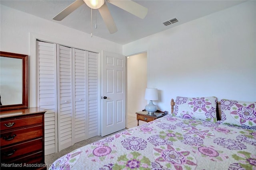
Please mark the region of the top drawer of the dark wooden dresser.
[[10, 130], [17, 127], [24, 127], [24, 126], [30, 126], [30, 125], [36, 125], [36, 124], [42, 124], [43, 122], [43, 116], [33, 116], [33, 117], [25, 117], [20, 119], [9, 119], [1, 121], [0, 129], [1, 131], [4, 130]]

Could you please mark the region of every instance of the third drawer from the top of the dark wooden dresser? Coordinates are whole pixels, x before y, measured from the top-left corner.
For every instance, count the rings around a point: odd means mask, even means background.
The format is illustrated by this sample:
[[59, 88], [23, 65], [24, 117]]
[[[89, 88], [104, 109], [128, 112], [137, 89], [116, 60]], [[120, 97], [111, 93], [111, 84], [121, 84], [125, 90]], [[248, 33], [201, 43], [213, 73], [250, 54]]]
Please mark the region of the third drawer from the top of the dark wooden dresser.
[[6, 162], [6, 160], [10, 158], [16, 158], [23, 155], [28, 155], [29, 153], [40, 151], [42, 148], [42, 138], [6, 147], [1, 149], [1, 162]]

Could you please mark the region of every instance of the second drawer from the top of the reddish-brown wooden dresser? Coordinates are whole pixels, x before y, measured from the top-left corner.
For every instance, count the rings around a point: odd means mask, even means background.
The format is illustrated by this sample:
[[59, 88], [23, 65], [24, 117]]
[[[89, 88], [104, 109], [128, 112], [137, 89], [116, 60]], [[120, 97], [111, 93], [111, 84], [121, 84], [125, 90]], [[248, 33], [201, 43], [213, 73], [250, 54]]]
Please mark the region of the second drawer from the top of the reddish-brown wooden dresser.
[[18, 129], [18, 130], [1, 133], [1, 139], [0, 139], [1, 147], [5, 145], [10, 145], [12, 143], [31, 140], [36, 137], [42, 137], [44, 133], [42, 129], [43, 129], [42, 125], [38, 125], [34, 127], [28, 127], [24, 129]]

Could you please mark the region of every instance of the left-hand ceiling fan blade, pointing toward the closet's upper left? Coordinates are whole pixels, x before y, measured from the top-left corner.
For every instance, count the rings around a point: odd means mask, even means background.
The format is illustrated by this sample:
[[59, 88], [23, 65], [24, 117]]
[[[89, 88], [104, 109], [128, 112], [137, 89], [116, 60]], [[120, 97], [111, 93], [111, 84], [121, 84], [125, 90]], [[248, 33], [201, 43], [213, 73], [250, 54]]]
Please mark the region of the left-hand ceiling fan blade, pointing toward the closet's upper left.
[[67, 8], [65, 8], [64, 10], [62, 10], [59, 14], [57, 14], [54, 18], [52, 18], [53, 20], [56, 21], [61, 21], [63, 20], [66, 16], [68, 16], [69, 14], [71, 14], [74, 10], [76, 10], [79, 6], [81, 6], [82, 4], [84, 4], [84, 1], [82, 0], [76, 0], [75, 2], [73, 2], [72, 4], [70, 4]]

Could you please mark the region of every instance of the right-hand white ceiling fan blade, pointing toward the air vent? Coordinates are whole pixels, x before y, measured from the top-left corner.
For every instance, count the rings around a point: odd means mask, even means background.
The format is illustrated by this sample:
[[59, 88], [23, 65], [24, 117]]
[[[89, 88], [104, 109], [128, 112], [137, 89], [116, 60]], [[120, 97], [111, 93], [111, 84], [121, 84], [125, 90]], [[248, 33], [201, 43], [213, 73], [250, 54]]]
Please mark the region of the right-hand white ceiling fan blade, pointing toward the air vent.
[[133, 2], [132, 0], [108, 0], [108, 2], [141, 19], [145, 18], [148, 13], [148, 8]]

